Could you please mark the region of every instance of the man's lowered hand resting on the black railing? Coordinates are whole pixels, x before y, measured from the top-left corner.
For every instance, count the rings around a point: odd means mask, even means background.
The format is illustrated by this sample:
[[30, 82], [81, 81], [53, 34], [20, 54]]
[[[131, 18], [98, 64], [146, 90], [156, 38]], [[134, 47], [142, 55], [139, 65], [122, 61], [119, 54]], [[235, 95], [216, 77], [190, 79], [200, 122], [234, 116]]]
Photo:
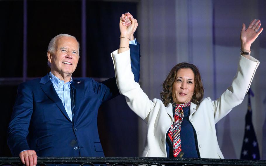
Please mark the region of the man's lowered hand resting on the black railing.
[[20, 160], [26, 166], [37, 165], [37, 154], [35, 151], [27, 150], [19, 153]]

